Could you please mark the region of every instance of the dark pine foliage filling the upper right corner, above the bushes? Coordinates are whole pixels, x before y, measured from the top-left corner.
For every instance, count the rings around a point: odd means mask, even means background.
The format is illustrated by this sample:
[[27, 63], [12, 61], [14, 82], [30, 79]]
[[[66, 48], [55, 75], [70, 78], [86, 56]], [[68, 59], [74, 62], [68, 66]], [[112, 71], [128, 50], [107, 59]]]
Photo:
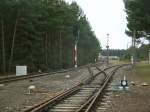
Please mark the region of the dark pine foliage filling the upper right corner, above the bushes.
[[150, 34], [149, 4], [149, 0], [126, 0], [127, 35], [136, 39], [145, 37], [147, 40], [150, 40], [150, 35], [147, 35]]

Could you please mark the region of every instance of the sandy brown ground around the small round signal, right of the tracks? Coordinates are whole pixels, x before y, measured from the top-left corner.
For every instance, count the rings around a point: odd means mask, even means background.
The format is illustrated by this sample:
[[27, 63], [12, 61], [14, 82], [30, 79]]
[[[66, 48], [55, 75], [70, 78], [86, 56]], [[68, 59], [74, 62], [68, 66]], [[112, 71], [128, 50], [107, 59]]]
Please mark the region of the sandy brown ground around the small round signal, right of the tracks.
[[[119, 89], [124, 76], [129, 84], [126, 90]], [[108, 102], [100, 104], [105, 109], [97, 112], [150, 112], [150, 86], [141, 86], [143, 82], [129, 67], [119, 70], [109, 86]]]

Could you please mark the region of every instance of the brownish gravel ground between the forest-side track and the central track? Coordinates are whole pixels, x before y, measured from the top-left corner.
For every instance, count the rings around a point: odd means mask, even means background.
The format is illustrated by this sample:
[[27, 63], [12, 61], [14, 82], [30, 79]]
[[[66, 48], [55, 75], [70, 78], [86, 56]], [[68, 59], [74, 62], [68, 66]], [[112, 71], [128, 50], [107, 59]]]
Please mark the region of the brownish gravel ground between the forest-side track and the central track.
[[[94, 74], [98, 70], [92, 69]], [[69, 75], [69, 78], [66, 76]], [[33, 105], [39, 104], [47, 98], [54, 97], [60, 92], [83, 82], [90, 76], [87, 68], [67, 73], [22, 80], [0, 86], [0, 112], [22, 112]], [[29, 94], [28, 87], [36, 88]]]

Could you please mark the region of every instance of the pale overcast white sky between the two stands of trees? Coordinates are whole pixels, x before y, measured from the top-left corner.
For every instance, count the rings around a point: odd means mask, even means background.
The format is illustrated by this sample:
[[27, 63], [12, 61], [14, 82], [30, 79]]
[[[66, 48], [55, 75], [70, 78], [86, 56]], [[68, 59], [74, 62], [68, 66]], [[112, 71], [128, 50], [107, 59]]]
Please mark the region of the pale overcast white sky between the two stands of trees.
[[126, 36], [126, 13], [123, 0], [66, 0], [76, 1], [86, 14], [92, 30], [106, 48], [107, 34], [111, 49], [126, 49], [131, 39]]

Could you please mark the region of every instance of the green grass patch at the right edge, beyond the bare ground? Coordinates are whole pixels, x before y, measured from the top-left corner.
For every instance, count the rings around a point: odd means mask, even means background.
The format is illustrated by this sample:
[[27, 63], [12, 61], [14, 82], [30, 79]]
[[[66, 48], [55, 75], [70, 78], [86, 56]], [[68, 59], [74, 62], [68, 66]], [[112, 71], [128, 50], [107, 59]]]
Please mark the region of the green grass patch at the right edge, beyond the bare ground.
[[150, 64], [138, 64], [135, 67], [135, 74], [142, 80], [150, 82]]

